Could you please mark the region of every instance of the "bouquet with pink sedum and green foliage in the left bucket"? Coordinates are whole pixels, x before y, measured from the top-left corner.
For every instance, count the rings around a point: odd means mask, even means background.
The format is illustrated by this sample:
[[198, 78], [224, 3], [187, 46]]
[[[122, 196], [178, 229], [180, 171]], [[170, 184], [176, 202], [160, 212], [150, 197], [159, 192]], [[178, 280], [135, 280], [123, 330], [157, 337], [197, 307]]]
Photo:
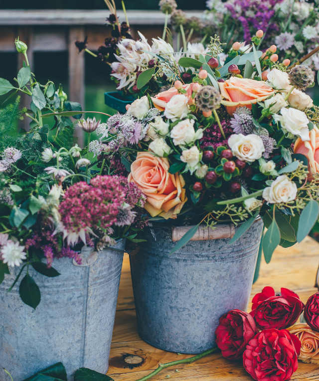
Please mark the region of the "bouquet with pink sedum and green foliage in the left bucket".
[[[16, 86], [0, 78], [0, 94], [20, 91], [32, 102], [30, 110], [19, 111], [17, 98], [0, 110], [0, 283], [9, 269], [21, 266], [13, 287], [26, 269], [19, 292], [35, 308], [40, 292], [30, 267], [58, 276], [53, 260], [69, 257], [81, 263], [79, 250], [85, 244], [101, 250], [123, 237], [139, 241], [145, 196], [127, 178], [112, 176], [104, 165], [98, 168], [90, 145], [78, 147], [69, 116], [80, 114], [75, 110], [81, 106], [67, 101], [61, 87], [55, 91], [53, 82], [37, 82], [27, 64], [26, 45], [16, 45], [18, 51], [23, 48], [26, 64]], [[16, 133], [15, 120], [23, 114], [31, 119], [30, 130]], [[49, 114], [55, 122], [51, 128], [44, 124]], [[79, 120], [79, 125], [90, 136], [100, 122]]]

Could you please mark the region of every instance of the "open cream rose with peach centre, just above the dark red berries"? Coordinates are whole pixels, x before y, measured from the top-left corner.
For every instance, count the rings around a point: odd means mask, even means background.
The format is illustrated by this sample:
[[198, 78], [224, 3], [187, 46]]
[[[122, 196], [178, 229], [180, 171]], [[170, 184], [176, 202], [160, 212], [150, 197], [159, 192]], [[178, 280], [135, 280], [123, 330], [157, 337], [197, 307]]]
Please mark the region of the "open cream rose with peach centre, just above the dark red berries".
[[228, 138], [228, 146], [237, 159], [244, 162], [254, 162], [260, 159], [265, 152], [264, 143], [260, 136], [255, 134], [233, 134]]

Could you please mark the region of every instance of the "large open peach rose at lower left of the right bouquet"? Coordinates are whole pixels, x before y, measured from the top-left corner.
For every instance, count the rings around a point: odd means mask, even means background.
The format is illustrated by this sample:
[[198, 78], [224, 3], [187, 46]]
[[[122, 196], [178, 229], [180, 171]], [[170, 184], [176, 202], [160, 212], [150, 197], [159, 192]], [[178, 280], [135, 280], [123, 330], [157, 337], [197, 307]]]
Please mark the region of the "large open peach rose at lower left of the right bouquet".
[[145, 193], [144, 207], [152, 217], [176, 218], [187, 201], [184, 179], [178, 173], [168, 173], [168, 169], [168, 160], [155, 157], [151, 152], [138, 152], [131, 165], [128, 181]]

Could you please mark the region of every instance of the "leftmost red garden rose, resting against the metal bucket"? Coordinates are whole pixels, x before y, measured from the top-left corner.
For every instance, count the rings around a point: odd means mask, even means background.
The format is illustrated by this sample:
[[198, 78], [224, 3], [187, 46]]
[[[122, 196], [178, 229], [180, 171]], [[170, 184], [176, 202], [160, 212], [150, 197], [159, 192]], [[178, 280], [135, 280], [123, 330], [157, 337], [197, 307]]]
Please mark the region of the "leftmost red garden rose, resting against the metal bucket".
[[219, 319], [216, 344], [227, 359], [239, 359], [256, 332], [256, 324], [250, 314], [240, 310], [229, 311]]

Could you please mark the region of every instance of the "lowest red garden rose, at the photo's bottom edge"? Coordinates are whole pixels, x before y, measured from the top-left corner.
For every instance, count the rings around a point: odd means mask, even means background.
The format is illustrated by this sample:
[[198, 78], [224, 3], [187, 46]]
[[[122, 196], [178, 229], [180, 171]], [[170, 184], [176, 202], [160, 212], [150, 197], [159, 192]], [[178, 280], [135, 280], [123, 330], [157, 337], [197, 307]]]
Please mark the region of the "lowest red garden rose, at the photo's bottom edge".
[[300, 348], [300, 340], [289, 331], [264, 330], [248, 343], [244, 367], [257, 381], [290, 380], [298, 369]]

